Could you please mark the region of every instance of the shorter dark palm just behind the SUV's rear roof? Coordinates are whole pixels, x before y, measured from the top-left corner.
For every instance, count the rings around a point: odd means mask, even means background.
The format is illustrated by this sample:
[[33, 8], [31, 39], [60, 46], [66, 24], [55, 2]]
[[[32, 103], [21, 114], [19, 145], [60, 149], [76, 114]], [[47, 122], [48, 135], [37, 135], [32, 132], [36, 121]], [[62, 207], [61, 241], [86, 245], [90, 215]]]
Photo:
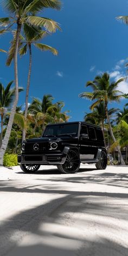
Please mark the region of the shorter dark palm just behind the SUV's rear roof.
[[[117, 112], [117, 110], [118, 110], [118, 108], [111, 108], [110, 110], [108, 110], [108, 115], [111, 117], [113, 113]], [[104, 141], [105, 141], [104, 122], [106, 119], [107, 119], [107, 116], [106, 116], [104, 101], [100, 102], [99, 105], [95, 106], [93, 108], [92, 113], [88, 113], [85, 115], [85, 121], [87, 121], [88, 123], [95, 124], [95, 125], [100, 125], [102, 127]], [[106, 142], [105, 142], [105, 147], [106, 147]]]

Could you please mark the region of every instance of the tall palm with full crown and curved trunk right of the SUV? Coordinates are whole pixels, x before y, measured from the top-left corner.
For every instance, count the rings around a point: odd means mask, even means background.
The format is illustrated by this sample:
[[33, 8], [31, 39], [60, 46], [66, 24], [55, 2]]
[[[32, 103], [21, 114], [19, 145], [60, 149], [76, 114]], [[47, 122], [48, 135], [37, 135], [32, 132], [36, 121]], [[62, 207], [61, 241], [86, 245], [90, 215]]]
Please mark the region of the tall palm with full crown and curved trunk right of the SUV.
[[[97, 106], [101, 101], [104, 101], [107, 122], [110, 130], [110, 134], [114, 143], [116, 143], [116, 138], [113, 135], [111, 121], [108, 114], [108, 103], [112, 101], [119, 102], [120, 99], [124, 97], [124, 94], [117, 90], [119, 83], [122, 81], [124, 81], [124, 79], [120, 78], [117, 82], [111, 82], [109, 74], [104, 73], [100, 76], [96, 76], [93, 81], [87, 82], [86, 86], [91, 86], [93, 89], [93, 92], [84, 92], [79, 95], [81, 98], [87, 98], [90, 100], [97, 99], [97, 101], [95, 101], [95, 103], [91, 105], [92, 109], [95, 106]], [[117, 150], [120, 156], [121, 164], [125, 164], [124, 159], [121, 155], [119, 145], [117, 145]]]

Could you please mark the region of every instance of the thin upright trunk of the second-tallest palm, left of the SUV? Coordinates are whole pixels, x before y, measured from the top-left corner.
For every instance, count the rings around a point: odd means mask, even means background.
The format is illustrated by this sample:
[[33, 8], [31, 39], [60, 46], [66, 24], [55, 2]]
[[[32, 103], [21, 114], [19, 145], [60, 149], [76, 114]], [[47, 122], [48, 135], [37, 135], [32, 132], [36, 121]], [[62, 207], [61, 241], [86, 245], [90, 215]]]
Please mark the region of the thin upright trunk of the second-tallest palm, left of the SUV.
[[[25, 121], [27, 119], [27, 113], [28, 113], [28, 95], [29, 95], [29, 87], [30, 87], [30, 76], [31, 76], [31, 63], [32, 63], [32, 54], [31, 54], [31, 44], [29, 44], [29, 72], [28, 72], [28, 82], [27, 82], [27, 88], [26, 88], [26, 96], [25, 96], [25, 112], [24, 117]], [[22, 141], [25, 140], [25, 133], [26, 129], [24, 127], [22, 132]]]

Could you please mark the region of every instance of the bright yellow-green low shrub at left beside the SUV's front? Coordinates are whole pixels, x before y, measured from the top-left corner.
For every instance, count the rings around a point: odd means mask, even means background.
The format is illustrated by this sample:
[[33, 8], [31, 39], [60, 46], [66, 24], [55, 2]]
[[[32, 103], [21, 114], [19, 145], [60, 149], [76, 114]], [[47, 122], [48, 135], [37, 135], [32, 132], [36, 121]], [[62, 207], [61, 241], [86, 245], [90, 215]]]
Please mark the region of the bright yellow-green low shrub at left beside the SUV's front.
[[5, 153], [3, 164], [4, 166], [8, 166], [8, 167], [18, 165], [17, 155]]

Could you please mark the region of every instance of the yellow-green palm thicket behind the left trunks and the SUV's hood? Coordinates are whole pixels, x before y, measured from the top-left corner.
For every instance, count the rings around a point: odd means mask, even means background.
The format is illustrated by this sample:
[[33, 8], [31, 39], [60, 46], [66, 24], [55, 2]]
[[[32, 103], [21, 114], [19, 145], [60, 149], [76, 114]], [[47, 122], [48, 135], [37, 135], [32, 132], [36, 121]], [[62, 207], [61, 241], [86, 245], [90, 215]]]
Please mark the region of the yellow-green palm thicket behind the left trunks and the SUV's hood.
[[[48, 123], [57, 123], [68, 121], [69, 111], [63, 111], [65, 104], [60, 101], [53, 103], [52, 95], [44, 95], [42, 100], [34, 98], [28, 108], [26, 122], [26, 138], [40, 137]], [[4, 131], [8, 124], [9, 117], [4, 119]], [[23, 121], [22, 121], [23, 119]], [[22, 142], [22, 131], [24, 128], [24, 111], [22, 106], [16, 108], [14, 124], [12, 125], [11, 135], [7, 147], [8, 153], [20, 153]]]

